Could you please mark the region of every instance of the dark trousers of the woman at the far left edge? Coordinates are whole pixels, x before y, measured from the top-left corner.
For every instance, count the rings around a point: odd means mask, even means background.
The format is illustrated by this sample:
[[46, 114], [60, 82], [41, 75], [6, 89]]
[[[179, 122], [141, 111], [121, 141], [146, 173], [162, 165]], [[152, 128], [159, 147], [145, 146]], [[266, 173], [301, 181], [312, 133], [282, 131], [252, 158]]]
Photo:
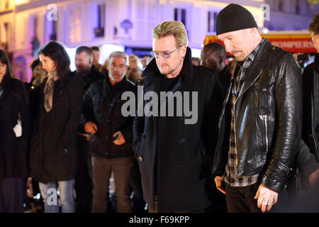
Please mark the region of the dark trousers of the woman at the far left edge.
[[26, 179], [0, 179], [0, 213], [22, 213]]

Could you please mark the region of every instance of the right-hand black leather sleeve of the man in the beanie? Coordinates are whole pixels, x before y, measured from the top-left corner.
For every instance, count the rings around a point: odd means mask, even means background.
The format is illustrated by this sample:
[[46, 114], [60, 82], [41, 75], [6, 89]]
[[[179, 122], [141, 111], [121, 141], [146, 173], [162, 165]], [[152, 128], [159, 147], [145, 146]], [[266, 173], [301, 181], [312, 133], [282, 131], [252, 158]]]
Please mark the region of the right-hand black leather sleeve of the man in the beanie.
[[298, 153], [302, 131], [302, 81], [301, 72], [292, 55], [281, 58], [276, 72], [274, 88], [276, 104], [276, 130], [274, 146], [262, 184], [281, 192], [291, 172]]

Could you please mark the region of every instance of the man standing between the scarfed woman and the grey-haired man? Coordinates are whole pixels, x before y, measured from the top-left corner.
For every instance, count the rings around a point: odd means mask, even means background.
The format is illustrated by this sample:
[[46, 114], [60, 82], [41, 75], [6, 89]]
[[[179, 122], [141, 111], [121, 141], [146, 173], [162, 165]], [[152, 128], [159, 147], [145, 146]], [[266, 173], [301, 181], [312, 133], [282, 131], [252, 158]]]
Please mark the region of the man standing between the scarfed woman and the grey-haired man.
[[[84, 93], [94, 81], [104, 79], [105, 76], [94, 66], [91, 48], [81, 46], [75, 52], [75, 66], [77, 73], [81, 76]], [[84, 109], [92, 106], [84, 102]], [[86, 140], [85, 131], [82, 126], [78, 127], [77, 144], [79, 158], [77, 175], [74, 181], [76, 197], [76, 212], [91, 212], [92, 180], [91, 180], [91, 155], [89, 154], [89, 142]]]

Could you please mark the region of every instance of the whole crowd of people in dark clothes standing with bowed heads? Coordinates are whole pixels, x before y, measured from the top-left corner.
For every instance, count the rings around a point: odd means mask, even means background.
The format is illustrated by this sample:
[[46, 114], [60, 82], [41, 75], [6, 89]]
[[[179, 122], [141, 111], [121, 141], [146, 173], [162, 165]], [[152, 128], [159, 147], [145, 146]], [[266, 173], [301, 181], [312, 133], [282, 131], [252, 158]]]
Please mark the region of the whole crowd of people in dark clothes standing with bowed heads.
[[[319, 13], [309, 31], [319, 53]], [[29, 83], [0, 50], [0, 213], [318, 211], [318, 194], [298, 196], [319, 184], [319, 54], [301, 75], [237, 4], [218, 13], [216, 35], [225, 47], [191, 57], [184, 25], [164, 21], [152, 57], [116, 51], [100, 65], [99, 48], [81, 46], [74, 72], [50, 41]], [[125, 92], [148, 112], [124, 116]], [[179, 115], [187, 92], [193, 123]]]

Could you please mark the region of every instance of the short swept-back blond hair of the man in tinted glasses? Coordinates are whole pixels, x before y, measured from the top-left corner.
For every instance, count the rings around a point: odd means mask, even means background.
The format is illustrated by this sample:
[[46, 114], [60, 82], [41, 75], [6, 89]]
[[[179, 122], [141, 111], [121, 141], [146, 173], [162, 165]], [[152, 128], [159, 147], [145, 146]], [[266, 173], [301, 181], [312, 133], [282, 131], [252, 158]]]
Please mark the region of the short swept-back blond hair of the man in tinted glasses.
[[183, 23], [179, 21], [164, 21], [155, 26], [152, 31], [153, 38], [163, 38], [167, 35], [174, 35], [177, 48], [188, 45], [187, 32]]

